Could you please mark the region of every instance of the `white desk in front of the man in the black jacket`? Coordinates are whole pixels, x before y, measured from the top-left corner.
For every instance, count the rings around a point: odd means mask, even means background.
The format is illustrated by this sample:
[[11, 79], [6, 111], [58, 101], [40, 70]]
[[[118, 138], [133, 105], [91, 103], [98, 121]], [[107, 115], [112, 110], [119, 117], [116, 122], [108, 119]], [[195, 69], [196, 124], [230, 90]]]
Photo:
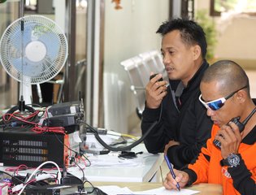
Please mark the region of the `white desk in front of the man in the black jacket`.
[[[119, 167], [85, 167], [85, 177], [89, 181], [110, 181], [110, 182], [148, 182], [150, 181], [158, 168], [163, 163], [163, 154], [148, 154], [145, 145], [140, 144], [132, 149], [134, 152], [143, 151], [144, 154], [138, 155], [135, 160], [140, 161], [139, 166], [119, 166]], [[99, 159], [104, 160], [104, 155]], [[117, 157], [116, 157], [117, 158]], [[68, 168], [67, 170], [74, 176], [82, 177], [78, 167]]]

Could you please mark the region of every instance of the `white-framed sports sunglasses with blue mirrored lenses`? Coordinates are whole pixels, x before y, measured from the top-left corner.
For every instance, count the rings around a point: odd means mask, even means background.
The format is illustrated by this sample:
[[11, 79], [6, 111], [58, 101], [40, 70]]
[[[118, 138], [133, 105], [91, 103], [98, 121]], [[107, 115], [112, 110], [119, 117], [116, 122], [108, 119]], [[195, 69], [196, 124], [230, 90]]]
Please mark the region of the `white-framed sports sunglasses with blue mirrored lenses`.
[[[248, 85], [246, 85], [245, 87], [242, 87], [241, 89], [245, 89], [247, 88]], [[219, 108], [221, 108], [224, 105], [224, 102], [226, 102], [228, 100], [228, 98], [231, 98], [235, 93], [237, 93], [238, 91], [240, 91], [241, 89], [238, 89], [236, 91], [234, 91], [233, 93], [230, 93], [227, 97], [225, 98], [219, 98], [210, 102], [204, 102], [202, 100], [202, 94], [199, 96], [199, 101], [203, 104], [203, 106], [205, 106], [207, 109], [210, 108], [210, 110], [212, 111], [218, 111]]]

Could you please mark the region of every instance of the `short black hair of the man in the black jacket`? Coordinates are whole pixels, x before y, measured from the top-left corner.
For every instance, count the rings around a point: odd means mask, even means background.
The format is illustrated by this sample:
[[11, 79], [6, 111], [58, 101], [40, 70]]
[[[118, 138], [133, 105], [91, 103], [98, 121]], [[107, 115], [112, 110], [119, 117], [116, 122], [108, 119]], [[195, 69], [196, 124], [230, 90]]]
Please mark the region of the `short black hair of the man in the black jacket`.
[[157, 30], [162, 36], [168, 32], [179, 30], [180, 37], [188, 45], [199, 45], [202, 50], [202, 58], [206, 58], [207, 42], [206, 33], [202, 27], [193, 20], [187, 18], [175, 18], [163, 22]]

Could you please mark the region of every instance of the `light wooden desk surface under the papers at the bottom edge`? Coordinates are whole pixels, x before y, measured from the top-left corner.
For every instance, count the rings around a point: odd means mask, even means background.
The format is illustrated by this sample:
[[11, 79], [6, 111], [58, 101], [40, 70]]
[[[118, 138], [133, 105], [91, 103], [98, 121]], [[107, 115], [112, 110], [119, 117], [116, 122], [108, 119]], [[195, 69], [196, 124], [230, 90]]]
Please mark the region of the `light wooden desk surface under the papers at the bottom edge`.
[[[128, 187], [132, 191], [144, 191], [157, 189], [163, 186], [162, 183], [113, 183], [113, 182], [93, 182], [94, 186], [117, 185], [121, 188]], [[219, 184], [195, 184], [187, 189], [200, 191], [200, 195], [221, 195], [222, 187]]]

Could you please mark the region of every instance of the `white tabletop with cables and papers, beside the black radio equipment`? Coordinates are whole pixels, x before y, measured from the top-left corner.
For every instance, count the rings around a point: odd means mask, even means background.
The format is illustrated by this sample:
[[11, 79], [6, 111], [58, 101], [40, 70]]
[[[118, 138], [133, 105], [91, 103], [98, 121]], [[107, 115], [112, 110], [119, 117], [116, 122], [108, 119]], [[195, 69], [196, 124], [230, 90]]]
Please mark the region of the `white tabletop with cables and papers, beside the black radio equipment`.
[[[84, 166], [86, 179], [100, 182], [150, 181], [163, 163], [163, 154], [149, 154], [143, 144], [137, 145], [132, 151], [136, 153], [143, 151], [143, 154], [137, 154], [137, 158], [124, 161], [119, 160], [116, 155], [111, 156], [113, 154], [98, 155], [96, 158], [91, 158], [92, 166]], [[109, 161], [111, 161], [111, 165], [108, 163]], [[94, 166], [93, 163], [97, 163], [97, 165]], [[82, 164], [80, 165], [83, 167]], [[79, 167], [68, 168], [67, 172], [82, 177], [82, 171]]]

